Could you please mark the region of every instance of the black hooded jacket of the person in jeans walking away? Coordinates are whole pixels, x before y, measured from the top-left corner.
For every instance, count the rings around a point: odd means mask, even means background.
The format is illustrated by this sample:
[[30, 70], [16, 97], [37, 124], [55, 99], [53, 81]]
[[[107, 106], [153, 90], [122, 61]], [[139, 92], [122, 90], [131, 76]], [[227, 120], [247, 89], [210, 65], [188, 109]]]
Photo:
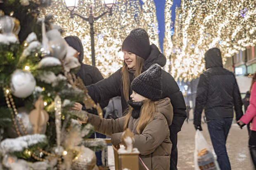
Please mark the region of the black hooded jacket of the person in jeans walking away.
[[205, 57], [206, 71], [199, 78], [197, 86], [194, 125], [201, 125], [204, 110], [206, 120], [232, 118], [233, 106], [236, 119], [242, 115], [242, 99], [235, 75], [223, 68], [220, 55]]

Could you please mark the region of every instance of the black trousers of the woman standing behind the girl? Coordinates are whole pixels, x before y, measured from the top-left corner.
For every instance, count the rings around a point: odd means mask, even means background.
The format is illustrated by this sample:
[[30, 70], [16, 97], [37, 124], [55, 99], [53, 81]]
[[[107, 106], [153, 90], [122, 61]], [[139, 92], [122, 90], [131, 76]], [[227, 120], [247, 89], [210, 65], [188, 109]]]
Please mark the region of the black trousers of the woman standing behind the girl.
[[178, 163], [177, 140], [178, 140], [178, 135], [177, 135], [177, 133], [173, 132], [170, 127], [169, 127], [169, 130], [170, 130], [170, 140], [173, 144], [173, 147], [171, 149], [170, 170], [177, 170], [177, 163]]

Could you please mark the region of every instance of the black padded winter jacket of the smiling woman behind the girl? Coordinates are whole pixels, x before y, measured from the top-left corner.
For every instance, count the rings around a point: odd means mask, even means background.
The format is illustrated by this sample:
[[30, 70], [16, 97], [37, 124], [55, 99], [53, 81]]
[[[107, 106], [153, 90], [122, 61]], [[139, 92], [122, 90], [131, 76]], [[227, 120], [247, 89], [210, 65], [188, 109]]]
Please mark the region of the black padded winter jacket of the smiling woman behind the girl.
[[[162, 54], [156, 45], [150, 46], [150, 54], [147, 60], [144, 62], [143, 70], [147, 70], [152, 64], [158, 63], [163, 67], [166, 64], [166, 57]], [[133, 73], [130, 73], [130, 82], [134, 79]], [[122, 73], [121, 68], [114, 74], [110, 75], [107, 79], [103, 79], [96, 84], [92, 84], [86, 87], [88, 94], [95, 102], [102, 102], [104, 100], [113, 98], [115, 96], [121, 96], [122, 110], [124, 111], [128, 104], [123, 95]], [[162, 70], [162, 98], [170, 98], [173, 105], [173, 121], [171, 129], [173, 132], [178, 133], [186, 119], [186, 105], [183, 98], [183, 94], [175, 82], [173, 77], [166, 71]], [[132, 94], [132, 90], [129, 91], [129, 98]]]

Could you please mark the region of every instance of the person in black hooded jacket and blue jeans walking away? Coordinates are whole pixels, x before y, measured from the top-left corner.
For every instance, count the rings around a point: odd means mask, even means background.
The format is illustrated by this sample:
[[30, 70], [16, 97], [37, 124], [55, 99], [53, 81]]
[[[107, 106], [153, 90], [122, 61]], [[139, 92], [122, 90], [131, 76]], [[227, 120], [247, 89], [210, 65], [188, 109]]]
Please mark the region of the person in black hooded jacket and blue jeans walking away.
[[212, 48], [205, 53], [206, 71], [199, 78], [194, 126], [201, 128], [201, 113], [205, 116], [211, 142], [221, 170], [231, 170], [226, 151], [226, 140], [233, 120], [235, 107], [236, 120], [242, 115], [242, 99], [235, 75], [223, 68], [220, 49]]

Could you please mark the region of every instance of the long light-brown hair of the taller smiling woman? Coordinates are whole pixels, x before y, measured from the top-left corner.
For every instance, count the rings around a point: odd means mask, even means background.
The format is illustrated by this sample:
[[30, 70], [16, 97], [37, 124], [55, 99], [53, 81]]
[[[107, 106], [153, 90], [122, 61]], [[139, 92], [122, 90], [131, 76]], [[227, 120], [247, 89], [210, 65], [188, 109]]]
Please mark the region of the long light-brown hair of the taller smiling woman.
[[[144, 58], [136, 55], [136, 64], [135, 64], [135, 77], [138, 77], [142, 73], [142, 66], [144, 63]], [[123, 62], [122, 68], [122, 82], [123, 82], [123, 95], [126, 102], [129, 100], [129, 89], [130, 89], [130, 77], [128, 72], [128, 66], [126, 62]]]

